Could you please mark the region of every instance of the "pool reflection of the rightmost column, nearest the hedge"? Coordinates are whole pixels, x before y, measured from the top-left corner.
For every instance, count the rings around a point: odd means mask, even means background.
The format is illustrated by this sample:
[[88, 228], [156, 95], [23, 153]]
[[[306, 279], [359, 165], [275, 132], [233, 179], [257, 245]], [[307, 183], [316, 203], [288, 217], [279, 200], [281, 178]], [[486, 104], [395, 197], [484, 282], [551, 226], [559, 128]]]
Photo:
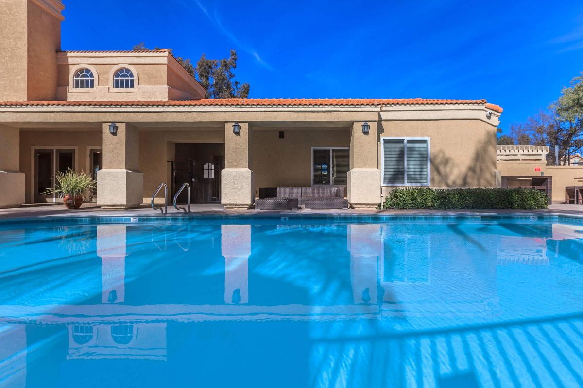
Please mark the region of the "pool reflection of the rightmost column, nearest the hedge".
[[347, 249], [350, 252], [354, 303], [377, 303], [378, 258], [382, 254], [381, 225], [348, 225]]

